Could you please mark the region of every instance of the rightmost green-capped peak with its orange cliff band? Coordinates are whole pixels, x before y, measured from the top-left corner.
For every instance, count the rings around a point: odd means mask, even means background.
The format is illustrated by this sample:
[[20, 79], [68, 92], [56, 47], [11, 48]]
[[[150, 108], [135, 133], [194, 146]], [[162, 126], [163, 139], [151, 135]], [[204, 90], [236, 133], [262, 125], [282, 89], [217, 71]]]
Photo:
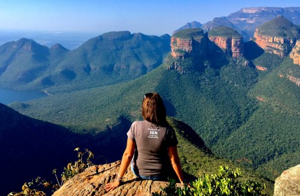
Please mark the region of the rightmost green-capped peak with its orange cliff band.
[[288, 56], [300, 38], [300, 29], [283, 16], [277, 16], [255, 29], [255, 42], [268, 53]]

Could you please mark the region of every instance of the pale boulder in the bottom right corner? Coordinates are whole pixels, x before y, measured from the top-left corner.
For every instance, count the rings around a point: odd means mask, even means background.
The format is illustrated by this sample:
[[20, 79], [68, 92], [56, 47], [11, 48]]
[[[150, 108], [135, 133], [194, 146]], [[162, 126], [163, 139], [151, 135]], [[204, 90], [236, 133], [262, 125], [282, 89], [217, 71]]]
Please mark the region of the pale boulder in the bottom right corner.
[[274, 196], [300, 195], [300, 164], [283, 171], [275, 181]]

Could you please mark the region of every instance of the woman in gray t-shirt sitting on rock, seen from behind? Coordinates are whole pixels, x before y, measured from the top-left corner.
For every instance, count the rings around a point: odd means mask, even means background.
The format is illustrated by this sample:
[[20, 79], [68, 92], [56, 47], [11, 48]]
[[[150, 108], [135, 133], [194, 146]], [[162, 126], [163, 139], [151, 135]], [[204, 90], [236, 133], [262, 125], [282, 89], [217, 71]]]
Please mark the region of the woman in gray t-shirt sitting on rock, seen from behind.
[[144, 121], [132, 123], [127, 132], [127, 147], [122, 156], [120, 170], [114, 182], [105, 185], [106, 191], [120, 186], [122, 177], [131, 164], [134, 175], [144, 180], [165, 180], [173, 167], [183, 184], [178, 157], [178, 140], [166, 120], [166, 108], [158, 93], [147, 93], [142, 101]]

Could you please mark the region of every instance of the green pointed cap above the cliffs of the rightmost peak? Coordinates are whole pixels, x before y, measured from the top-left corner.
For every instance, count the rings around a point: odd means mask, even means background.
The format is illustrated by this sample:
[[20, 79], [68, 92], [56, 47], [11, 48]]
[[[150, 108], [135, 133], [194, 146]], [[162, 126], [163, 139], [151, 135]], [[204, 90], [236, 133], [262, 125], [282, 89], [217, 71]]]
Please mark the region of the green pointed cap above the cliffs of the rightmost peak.
[[297, 25], [294, 25], [283, 16], [277, 16], [277, 18], [272, 19], [257, 28], [259, 29], [259, 34], [266, 36], [292, 39], [300, 38], [300, 30]]

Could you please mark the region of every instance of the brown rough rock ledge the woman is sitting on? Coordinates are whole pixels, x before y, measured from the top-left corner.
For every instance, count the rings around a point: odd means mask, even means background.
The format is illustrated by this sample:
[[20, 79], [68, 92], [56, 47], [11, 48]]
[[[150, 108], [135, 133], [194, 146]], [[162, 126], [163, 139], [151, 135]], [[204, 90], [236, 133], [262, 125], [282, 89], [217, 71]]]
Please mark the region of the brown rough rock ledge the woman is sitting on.
[[[83, 173], [79, 173], [68, 180], [54, 192], [53, 196], [60, 195], [140, 195], [147, 196], [151, 193], [159, 192], [160, 187], [164, 188], [169, 182], [138, 180], [130, 170], [124, 176], [124, 182], [121, 186], [109, 193], [105, 192], [105, 184], [113, 182], [118, 170], [120, 161], [110, 164], [94, 165], [87, 168]], [[180, 186], [180, 184], [178, 184]]]

